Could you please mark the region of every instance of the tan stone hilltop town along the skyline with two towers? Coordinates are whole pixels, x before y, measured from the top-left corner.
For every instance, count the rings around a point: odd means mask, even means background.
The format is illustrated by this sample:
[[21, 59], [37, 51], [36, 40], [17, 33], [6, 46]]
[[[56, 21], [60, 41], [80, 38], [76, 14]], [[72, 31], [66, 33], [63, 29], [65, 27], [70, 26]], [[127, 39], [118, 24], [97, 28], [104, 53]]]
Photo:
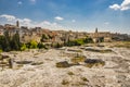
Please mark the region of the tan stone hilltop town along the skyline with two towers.
[[87, 32], [72, 32], [72, 30], [50, 30], [41, 27], [28, 28], [27, 26], [20, 26], [20, 22], [16, 22], [16, 25], [5, 24], [0, 25], [0, 36], [4, 35], [4, 32], [9, 32], [12, 36], [16, 32], [20, 34], [21, 42], [29, 42], [30, 40], [36, 40], [37, 42], [41, 41], [42, 35], [46, 36], [47, 39], [43, 39], [44, 44], [63, 44], [68, 40], [75, 40], [80, 38], [90, 37], [94, 42], [100, 41], [125, 41], [130, 40], [130, 36], [127, 34], [118, 34], [110, 32], [99, 32], [95, 28], [93, 33]]

